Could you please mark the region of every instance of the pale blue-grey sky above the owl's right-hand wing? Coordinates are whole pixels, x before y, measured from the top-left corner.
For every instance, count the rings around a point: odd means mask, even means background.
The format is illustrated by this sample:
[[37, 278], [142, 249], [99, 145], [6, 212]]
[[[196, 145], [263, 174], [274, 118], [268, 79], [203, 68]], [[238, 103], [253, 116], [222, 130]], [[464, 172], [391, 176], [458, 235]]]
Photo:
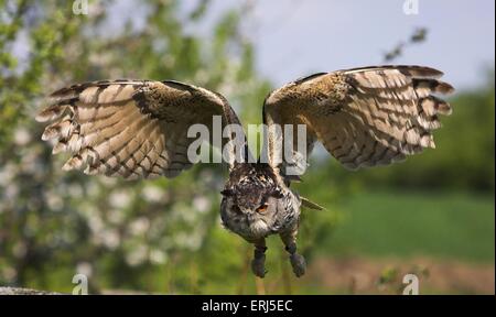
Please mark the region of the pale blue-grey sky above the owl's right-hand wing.
[[[242, 1], [214, 0], [208, 19]], [[196, 1], [182, 2], [185, 9]], [[495, 1], [418, 0], [418, 14], [403, 0], [251, 1], [242, 32], [256, 43], [257, 67], [276, 85], [305, 74], [382, 64], [382, 53], [419, 26], [428, 41], [410, 46], [395, 64], [421, 64], [445, 73], [457, 88], [486, 78], [494, 66]]]

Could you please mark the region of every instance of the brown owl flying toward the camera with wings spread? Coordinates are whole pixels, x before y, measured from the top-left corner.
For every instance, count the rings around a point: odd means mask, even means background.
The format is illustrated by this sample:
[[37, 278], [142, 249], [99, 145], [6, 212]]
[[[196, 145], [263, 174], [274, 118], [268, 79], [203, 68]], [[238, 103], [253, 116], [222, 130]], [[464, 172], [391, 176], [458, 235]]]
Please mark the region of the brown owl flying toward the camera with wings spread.
[[[453, 91], [439, 80], [442, 75], [422, 66], [314, 74], [267, 96], [263, 157], [249, 160], [245, 135], [224, 135], [220, 145], [227, 149], [223, 153], [229, 177], [222, 190], [220, 218], [225, 228], [255, 245], [255, 275], [265, 276], [266, 238], [276, 233], [294, 274], [305, 273], [305, 260], [296, 252], [300, 210], [322, 207], [290, 188], [306, 166], [301, 152], [310, 153], [321, 142], [345, 167], [357, 170], [434, 147], [432, 131], [441, 127], [439, 114], [452, 111], [436, 97]], [[220, 116], [222, 128], [240, 124], [217, 92], [173, 80], [119, 79], [62, 88], [51, 95], [50, 106], [36, 120], [54, 121], [42, 139], [56, 140], [54, 154], [71, 153], [65, 171], [137, 179], [174, 177], [191, 167], [187, 151], [194, 140], [188, 127], [204, 124], [212, 131], [214, 116]], [[304, 135], [294, 129], [285, 136], [276, 129], [288, 124], [304, 127]], [[305, 139], [304, 151], [289, 146], [300, 136]]]

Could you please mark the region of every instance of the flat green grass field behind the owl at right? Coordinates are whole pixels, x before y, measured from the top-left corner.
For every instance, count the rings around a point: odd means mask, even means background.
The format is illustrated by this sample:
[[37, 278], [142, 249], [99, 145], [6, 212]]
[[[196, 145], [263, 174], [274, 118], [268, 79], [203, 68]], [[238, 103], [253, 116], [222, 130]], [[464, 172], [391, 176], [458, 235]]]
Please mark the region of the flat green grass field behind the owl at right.
[[319, 252], [494, 263], [494, 197], [487, 194], [376, 188], [347, 198]]

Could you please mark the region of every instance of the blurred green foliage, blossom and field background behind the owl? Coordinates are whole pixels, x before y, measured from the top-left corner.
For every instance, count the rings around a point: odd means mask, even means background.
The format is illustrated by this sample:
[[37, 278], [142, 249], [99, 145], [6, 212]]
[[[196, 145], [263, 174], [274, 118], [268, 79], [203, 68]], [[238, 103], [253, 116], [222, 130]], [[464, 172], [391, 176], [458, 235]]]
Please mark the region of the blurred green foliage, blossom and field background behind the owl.
[[71, 293], [83, 273], [94, 294], [398, 294], [402, 275], [416, 273], [424, 294], [494, 293], [494, 64], [451, 97], [434, 151], [353, 173], [316, 151], [295, 187], [327, 210], [303, 212], [302, 278], [277, 238], [269, 274], [252, 276], [251, 247], [220, 226], [220, 166], [147, 182], [63, 173], [66, 157], [51, 155], [33, 118], [72, 83], [182, 80], [225, 95], [245, 123], [261, 122], [276, 87], [242, 26], [252, 1], [202, 32], [191, 30], [212, 1], [187, 2], [136, 1], [144, 26], [131, 14], [115, 28], [114, 1], [75, 15], [73, 1], [0, 0], [0, 286]]

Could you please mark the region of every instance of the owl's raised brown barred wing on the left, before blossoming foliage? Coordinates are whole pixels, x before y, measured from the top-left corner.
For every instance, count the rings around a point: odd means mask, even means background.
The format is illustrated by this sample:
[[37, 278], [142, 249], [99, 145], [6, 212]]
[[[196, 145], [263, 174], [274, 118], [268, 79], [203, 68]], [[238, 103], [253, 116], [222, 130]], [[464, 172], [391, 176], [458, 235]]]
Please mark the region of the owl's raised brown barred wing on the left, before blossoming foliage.
[[42, 139], [56, 140], [54, 154], [72, 154], [64, 170], [136, 179], [174, 177], [191, 167], [194, 139], [187, 130], [200, 123], [212, 132], [213, 116], [222, 116], [223, 127], [239, 123], [216, 92], [179, 81], [123, 79], [62, 88], [36, 120], [54, 121]]

